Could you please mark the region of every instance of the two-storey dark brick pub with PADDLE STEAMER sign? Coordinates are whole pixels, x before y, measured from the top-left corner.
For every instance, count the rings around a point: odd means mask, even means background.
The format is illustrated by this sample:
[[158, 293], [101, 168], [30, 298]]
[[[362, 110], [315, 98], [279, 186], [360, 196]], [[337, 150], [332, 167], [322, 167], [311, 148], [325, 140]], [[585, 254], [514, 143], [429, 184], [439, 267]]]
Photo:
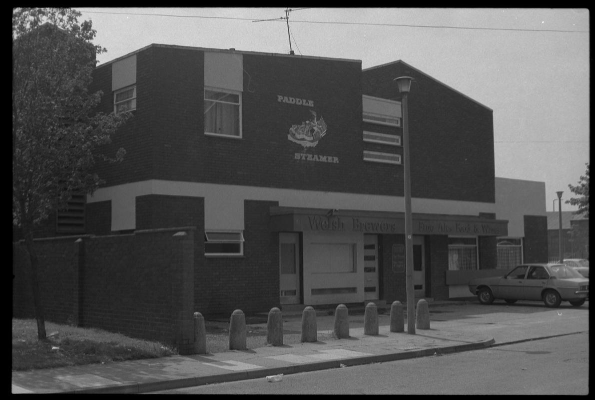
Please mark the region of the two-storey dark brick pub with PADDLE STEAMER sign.
[[543, 261], [544, 183], [494, 176], [485, 105], [400, 60], [160, 44], [96, 67], [99, 111], [134, 114], [108, 148], [126, 157], [98, 166], [79, 232], [58, 215], [53, 234], [192, 227], [206, 314], [405, 302], [400, 76], [415, 298]]

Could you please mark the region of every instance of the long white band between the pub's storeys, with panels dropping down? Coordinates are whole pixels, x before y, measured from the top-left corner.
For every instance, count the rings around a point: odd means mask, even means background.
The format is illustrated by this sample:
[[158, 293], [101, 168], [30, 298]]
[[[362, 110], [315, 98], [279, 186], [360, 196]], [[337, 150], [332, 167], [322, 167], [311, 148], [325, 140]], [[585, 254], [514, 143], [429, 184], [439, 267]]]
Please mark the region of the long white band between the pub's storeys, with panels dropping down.
[[[143, 182], [126, 183], [124, 185], [101, 187], [93, 193], [93, 196], [87, 196], [87, 202], [111, 200], [112, 230], [134, 229], [136, 212], [134, 199], [136, 196], [151, 194], [205, 198], [205, 227], [208, 229], [244, 229], [244, 199], [278, 201], [281, 207], [404, 211], [403, 198], [396, 196], [167, 180], [146, 180]], [[496, 212], [493, 203], [424, 198], [412, 198], [411, 202], [413, 212], [427, 214], [477, 215], [480, 212]], [[503, 217], [498, 213], [496, 217], [511, 219]], [[513, 236], [510, 227], [509, 236]]]

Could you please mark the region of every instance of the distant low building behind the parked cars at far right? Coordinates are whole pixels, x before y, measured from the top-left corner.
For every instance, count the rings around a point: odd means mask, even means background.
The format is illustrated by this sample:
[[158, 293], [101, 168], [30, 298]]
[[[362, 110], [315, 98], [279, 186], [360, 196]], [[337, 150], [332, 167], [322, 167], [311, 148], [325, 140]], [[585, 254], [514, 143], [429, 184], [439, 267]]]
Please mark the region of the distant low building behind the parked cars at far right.
[[[564, 206], [562, 206], [563, 208]], [[549, 260], [559, 260], [559, 211], [547, 212], [547, 248]], [[589, 258], [589, 218], [562, 211], [562, 258]]]

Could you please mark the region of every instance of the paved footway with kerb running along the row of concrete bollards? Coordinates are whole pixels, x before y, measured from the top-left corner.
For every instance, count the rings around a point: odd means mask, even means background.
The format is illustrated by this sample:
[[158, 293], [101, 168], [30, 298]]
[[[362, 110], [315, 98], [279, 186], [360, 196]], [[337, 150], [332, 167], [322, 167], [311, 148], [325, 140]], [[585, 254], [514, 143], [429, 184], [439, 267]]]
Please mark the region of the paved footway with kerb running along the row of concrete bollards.
[[[333, 332], [334, 315], [329, 312], [332, 310], [317, 310], [317, 342], [12, 371], [12, 393], [148, 393], [245, 379], [274, 381], [305, 371], [438, 356], [495, 345], [490, 330], [433, 318], [440, 315], [440, 307], [458, 304], [466, 305], [468, 301], [428, 301], [430, 329], [416, 329], [414, 335], [408, 333], [406, 305], [403, 305], [404, 332], [390, 332], [390, 310], [378, 307], [378, 335], [364, 335], [363, 307], [359, 310], [348, 307], [350, 337], [321, 341], [321, 337]], [[284, 311], [282, 315], [284, 331], [301, 332], [301, 311]], [[266, 329], [266, 317], [264, 321]], [[534, 339], [509, 337], [510, 342]]]

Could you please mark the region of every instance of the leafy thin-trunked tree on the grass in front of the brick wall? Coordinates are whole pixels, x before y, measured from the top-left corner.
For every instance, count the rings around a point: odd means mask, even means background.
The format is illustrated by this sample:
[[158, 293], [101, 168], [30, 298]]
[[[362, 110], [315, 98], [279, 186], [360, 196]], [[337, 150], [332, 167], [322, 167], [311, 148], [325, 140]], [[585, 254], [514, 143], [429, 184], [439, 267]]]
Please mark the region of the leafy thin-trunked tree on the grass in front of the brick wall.
[[118, 161], [101, 146], [130, 113], [95, 113], [101, 92], [90, 93], [96, 31], [70, 8], [12, 10], [12, 223], [29, 253], [37, 337], [46, 338], [33, 232], [64, 207], [71, 193], [92, 193], [102, 180], [96, 161]]

